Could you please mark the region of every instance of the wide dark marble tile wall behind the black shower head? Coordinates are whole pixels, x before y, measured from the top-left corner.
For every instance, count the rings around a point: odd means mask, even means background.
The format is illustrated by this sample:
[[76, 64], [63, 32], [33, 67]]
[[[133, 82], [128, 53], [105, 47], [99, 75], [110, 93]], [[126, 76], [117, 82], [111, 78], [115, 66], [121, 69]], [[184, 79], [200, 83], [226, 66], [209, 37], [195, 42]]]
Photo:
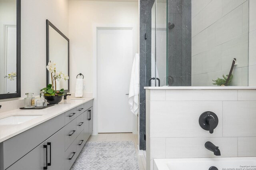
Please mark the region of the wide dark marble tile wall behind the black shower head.
[[191, 86], [191, 0], [168, 0], [168, 75], [172, 86]]

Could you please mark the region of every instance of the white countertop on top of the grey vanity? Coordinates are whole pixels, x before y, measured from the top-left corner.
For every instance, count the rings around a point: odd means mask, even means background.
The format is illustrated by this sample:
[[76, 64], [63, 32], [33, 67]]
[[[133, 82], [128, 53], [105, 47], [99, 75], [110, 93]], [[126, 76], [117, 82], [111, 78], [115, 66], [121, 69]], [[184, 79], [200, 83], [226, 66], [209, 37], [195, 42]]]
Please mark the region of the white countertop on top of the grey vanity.
[[67, 99], [62, 100], [60, 103], [48, 107], [46, 109], [15, 109], [7, 112], [0, 113], [0, 119], [13, 116], [13, 115], [42, 115], [31, 119], [30, 121], [26, 121], [24, 123], [20, 123], [17, 125], [0, 125], [0, 142], [12, 138], [17, 134], [20, 134], [32, 127], [35, 127], [45, 121], [48, 121], [74, 107], [77, 107], [83, 103], [86, 103], [93, 98], [79, 98], [79, 99]]

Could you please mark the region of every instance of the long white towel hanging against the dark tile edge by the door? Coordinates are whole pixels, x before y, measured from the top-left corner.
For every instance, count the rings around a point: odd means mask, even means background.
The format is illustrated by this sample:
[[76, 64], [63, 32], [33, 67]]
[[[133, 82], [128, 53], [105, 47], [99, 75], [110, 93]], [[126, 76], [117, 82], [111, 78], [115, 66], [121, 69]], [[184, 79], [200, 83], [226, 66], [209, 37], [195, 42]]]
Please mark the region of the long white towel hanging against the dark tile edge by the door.
[[140, 57], [136, 53], [133, 64], [132, 64], [132, 73], [130, 79], [130, 89], [129, 89], [129, 99], [128, 103], [130, 109], [134, 115], [137, 115], [139, 112], [139, 92], [140, 92]]

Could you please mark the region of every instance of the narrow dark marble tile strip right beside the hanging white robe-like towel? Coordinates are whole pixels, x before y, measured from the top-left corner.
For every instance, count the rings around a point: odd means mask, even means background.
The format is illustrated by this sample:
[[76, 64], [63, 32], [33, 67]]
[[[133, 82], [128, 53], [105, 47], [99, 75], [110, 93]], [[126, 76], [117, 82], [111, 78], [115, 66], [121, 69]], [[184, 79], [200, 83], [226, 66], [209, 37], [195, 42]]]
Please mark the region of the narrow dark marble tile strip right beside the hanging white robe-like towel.
[[[154, 0], [140, 0], [140, 150], [146, 150], [146, 90], [151, 77], [151, 9]], [[145, 40], [145, 34], [147, 39]]]

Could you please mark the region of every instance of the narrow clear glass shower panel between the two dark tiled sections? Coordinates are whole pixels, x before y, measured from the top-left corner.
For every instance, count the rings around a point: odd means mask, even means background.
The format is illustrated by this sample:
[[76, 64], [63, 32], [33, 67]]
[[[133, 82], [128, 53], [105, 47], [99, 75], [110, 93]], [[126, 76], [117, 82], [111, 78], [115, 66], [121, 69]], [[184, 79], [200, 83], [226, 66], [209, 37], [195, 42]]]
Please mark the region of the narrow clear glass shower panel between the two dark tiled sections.
[[[156, 86], [167, 85], [167, 33], [166, 33], [166, 20], [167, 20], [167, 6], [166, 0], [156, 0], [156, 15], [155, 27], [152, 27], [152, 32], [155, 33], [155, 56], [152, 55], [152, 62], [155, 62]], [[152, 38], [153, 40], [153, 38]], [[160, 82], [159, 82], [160, 81]]]

